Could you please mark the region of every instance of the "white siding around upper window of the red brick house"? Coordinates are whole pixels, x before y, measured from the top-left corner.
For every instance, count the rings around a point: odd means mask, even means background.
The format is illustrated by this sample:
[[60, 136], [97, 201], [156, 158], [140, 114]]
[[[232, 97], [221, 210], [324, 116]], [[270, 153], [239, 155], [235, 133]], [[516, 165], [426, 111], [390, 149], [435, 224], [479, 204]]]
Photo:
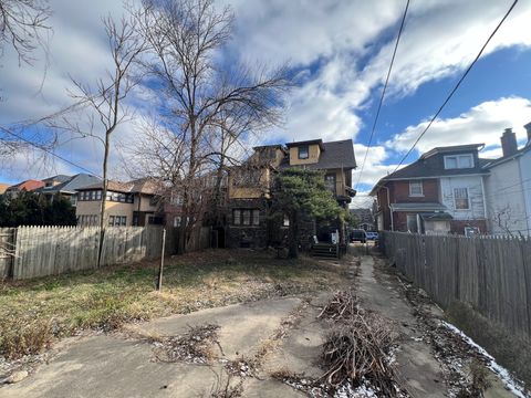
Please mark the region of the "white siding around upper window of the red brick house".
[[[485, 220], [481, 176], [444, 177], [440, 179], [440, 199], [456, 220]], [[468, 210], [456, 209], [455, 188], [468, 188]]]

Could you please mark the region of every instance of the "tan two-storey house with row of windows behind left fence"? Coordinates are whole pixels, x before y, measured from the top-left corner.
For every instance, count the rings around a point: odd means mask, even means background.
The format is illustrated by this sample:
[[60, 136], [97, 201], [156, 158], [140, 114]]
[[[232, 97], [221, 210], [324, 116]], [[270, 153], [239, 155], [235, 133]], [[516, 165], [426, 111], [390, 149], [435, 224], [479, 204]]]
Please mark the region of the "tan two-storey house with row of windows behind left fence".
[[[98, 226], [102, 206], [103, 184], [77, 188], [75, 216], [79, 226]], [[105, 202], [106, 224], [129, 227], [162, 224], [164, 213], [157, 196], [158, 185], [142, 178], [129, 182], [108, 181]]]

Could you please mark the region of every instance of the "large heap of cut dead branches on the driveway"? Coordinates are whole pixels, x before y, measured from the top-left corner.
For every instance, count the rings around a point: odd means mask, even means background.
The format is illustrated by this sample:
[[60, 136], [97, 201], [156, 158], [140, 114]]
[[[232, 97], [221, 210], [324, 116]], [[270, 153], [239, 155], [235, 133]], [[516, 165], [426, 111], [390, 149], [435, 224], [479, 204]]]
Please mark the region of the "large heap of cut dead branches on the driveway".
[[334, 321], [322, 355], [327, 385], [368, 384], [378, 396], [403, 396], [393, 365], [398, 334], [388, 320], [361, 308], [351, 291], [337, 292], [320, 317]]

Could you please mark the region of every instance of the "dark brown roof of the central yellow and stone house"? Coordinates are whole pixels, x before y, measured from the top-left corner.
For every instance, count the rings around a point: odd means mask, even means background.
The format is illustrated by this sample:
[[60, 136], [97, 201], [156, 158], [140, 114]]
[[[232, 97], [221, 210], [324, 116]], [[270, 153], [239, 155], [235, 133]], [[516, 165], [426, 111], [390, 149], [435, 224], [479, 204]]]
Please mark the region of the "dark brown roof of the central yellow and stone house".
[[[309, 142], [302, 142], [309, 143]], [[300, 143], [292, 143], [300, 144]], [[354, 157], [354, 145], [352, 139], [322, 143], [323, 150], [316, 164], [304, 165], [309, 169], [334, 169], [334, 168], [356, 168], [356, 158]], [[285, 157], [281, 168], [292, 167], [290, 158]]]

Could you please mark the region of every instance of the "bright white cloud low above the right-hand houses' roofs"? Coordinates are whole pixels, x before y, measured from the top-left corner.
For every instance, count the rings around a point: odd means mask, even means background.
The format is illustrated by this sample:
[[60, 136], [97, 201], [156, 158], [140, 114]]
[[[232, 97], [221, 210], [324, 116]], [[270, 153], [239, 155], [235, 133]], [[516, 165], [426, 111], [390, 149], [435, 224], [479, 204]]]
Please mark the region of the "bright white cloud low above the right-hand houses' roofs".
[[[436, 119], [426, 135], [416, 146], [418, 153], [425, 153], [437, 146], [461, 144], [486, 144], [496, 149], [500, 137], [508, 127], [513, 127], [520, 143], [527, 140], [523, 125], [531, 121], [531, 101], [521, 97], [499, 98], [483, 102], [458, 117]], [[428, 121], [408, 126], [386, 142], [388, 149], [405, 151], [426, 128]], [[496, 155], [489, 151], [489, 156]], [[486, 156], [487, 157], [487, 156]]]

